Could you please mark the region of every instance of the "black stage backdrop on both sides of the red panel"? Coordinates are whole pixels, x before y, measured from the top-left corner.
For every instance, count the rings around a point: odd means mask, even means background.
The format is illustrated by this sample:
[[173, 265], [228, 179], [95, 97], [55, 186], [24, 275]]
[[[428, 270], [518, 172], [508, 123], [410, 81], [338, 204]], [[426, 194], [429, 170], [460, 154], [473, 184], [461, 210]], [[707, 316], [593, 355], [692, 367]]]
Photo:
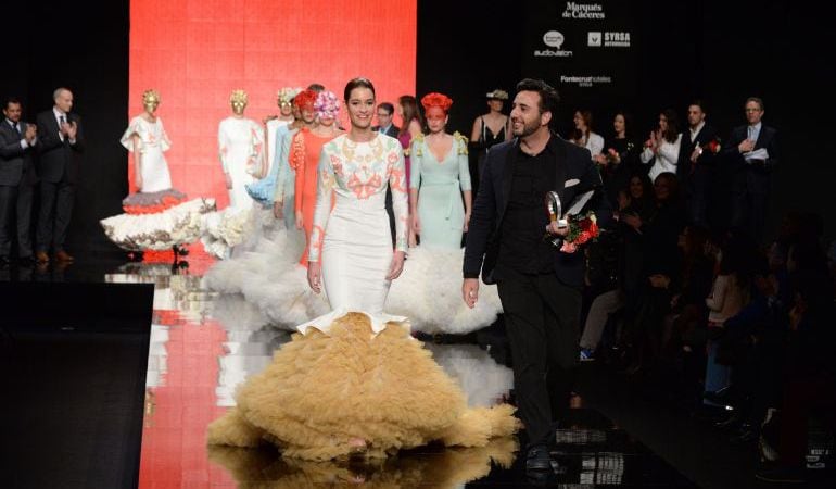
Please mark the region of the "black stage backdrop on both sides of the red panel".
[[[449, 95], [455, 100], [451, 128], [469, 136], [473, 118], [486, 110], [486, 91], [499, 87], [512, 93], [516, 82], [529, 75], [549, 79], [548, 66], [536, 73], [542, 65], [531, 59], [532, 42], [544, 28], [563, 32], [562, 49], [572, 49], [569, 35], [585, 27], [561, 16], [566, 3], [419, 1], [418, 95]], [[688, 101], [702, 98], [709, 121], [725, 137], [744, 122], [746, 97], [759, 96], [765, 101], [765, 124], [781, 131], [772, 229], [785, 210], [818, 210], [825, 218], [825, 236], [836, 235], [829, 97], [836, 82], [835, 50], [820, 7], [787, 0], [575, 3], [603, 5], [613, 30], [630, 29], [631, 47], [623, 55], [603, 50], [598, 59], [572, 60], [572, 66], [618, 73], [615, 87], [584, 90], [549, 79], [563, 97], [558, 129], [569, 127], [572, 111], [585, 106], [595, 112], [598, 131], [606, 137], [612, 111], [624, 108], [644, 136], [660, 109], [671, 106], [682, 117]], [[118, 138], [128, 121], [128, 11], [126, 0], [4, 7], [14, 48], [8, 48], [11, 58], [0, 70], [0, 95], [21, 98], [31, 121], [51, 106], [52, 90], [66, 85], [84, 117], [88, 150], [68, 238], [74, 251], [115, 251], [98, 220], [118, 213], [127, 192], [127, 159]], [[585, 48], [577, 51], [577, 57], [592, 55]]]

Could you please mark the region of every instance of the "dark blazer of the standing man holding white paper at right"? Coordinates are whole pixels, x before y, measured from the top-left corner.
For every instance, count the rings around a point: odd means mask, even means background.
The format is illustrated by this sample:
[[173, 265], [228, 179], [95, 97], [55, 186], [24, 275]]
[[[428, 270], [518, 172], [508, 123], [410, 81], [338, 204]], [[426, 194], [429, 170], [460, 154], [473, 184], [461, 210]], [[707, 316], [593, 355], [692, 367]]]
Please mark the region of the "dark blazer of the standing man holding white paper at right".
[[755, 141], [755, 149], [765, 148], [769, 153], [767, 160], [752, 160], [746, 163], [746, 160], [737, 149], [737, 145], [743, 142], [748, 135], [748, 126], [738, 126], [732, 129], [729, 141], [724, 146], [723, 156], [725, 164], [733, 174], [733, 190], [735, 192], [747, 193], [769, 193], [770, 173], [778, 164], [778, 141], [777, 130], [761, 124], [758, 140]]

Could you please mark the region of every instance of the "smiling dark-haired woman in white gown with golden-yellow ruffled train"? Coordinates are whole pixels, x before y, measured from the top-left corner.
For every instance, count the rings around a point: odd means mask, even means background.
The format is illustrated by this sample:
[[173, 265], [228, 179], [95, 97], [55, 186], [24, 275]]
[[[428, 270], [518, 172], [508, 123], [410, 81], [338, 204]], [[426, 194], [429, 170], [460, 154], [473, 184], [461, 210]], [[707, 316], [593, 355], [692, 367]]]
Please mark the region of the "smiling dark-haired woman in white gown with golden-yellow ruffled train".
[[[383, 304], [406, 253], [408, 205], [400, 143], [371, 130], [375, 89], [345, 87], [351, 130], [319, 161], [308, 281], [333, 311], [299, 327], [273, 363], [208, 427], [211, 444], [277, 444], [283, 456], [385, 456], [440, 440], [485, 446], [518, 428], [508, 405], [470, 409], [461, 390]], [[392, 249], [385, 189], [392, 189]], [[331, 204], [333, 203], [333, 211]]]

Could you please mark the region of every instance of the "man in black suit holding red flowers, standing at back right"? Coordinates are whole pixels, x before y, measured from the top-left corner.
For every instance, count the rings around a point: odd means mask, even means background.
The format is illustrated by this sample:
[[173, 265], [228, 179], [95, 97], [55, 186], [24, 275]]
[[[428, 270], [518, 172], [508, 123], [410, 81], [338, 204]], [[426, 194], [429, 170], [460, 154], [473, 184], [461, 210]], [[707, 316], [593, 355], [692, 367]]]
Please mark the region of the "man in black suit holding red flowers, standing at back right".
[[685, 190], [691, 223], [704, 227], [708, 227], [709, 191], [719, 145], [717, 129], [706, 123], [706, 109], [702, 101], [691, 102], [688, 131], [682, 135], [676, 177], [681, 188]]

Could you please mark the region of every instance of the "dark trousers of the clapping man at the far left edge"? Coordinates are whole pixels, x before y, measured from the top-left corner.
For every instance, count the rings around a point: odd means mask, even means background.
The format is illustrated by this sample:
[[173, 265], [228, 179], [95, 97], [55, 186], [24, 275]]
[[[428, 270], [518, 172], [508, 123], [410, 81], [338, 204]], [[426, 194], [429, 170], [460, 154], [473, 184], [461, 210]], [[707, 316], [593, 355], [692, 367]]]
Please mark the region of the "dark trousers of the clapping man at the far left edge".
[[[24, 175], [25, 177], [25, 175]], [[17, 256], [31, 256], [31, 199], [33, 185], [0, 185], [0, 256], [12, 250], [12, 216], [17, 227]]]

